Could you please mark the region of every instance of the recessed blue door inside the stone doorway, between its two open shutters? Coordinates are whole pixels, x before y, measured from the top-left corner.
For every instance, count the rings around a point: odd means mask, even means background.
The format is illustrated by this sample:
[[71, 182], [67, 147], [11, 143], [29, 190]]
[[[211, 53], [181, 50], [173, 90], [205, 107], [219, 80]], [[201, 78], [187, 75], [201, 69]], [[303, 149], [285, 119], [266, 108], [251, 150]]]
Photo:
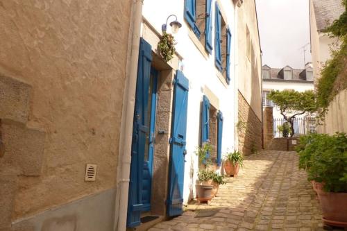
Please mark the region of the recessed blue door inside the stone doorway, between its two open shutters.
[[149, 133], [146, 134], [144, 147], [144, 170], [142, 173], [142, 211], [151, 210], [151, 186], [152, 186], [152, 166], [155, 139], [155, 108], [157, 101], [157, 78], [158, 71], [151, 68], [151, 78], [149, 83], [148, 117], [146, 125], [149, 124]]

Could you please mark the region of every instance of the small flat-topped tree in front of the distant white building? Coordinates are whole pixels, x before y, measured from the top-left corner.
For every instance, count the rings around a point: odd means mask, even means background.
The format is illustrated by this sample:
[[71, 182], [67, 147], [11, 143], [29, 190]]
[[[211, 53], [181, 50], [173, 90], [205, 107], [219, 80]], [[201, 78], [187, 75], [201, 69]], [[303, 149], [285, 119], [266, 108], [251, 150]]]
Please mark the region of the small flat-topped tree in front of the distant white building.
[[276, 90], [267, 95], [280, 109], [285, 121], [289, 123], [290, 137], [294, 135], [293, 123], [296, 116], [316, 112], [316, 100], [313, 91], [296, 92], [294, 90]]

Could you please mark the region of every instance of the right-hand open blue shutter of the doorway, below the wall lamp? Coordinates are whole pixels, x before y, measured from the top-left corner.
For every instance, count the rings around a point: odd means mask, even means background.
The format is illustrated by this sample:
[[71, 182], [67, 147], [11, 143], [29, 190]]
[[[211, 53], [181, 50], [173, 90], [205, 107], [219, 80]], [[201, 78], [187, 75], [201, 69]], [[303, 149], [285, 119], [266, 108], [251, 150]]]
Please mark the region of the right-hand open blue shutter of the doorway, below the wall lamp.
[[169, 216], [176, 216], [183, 212], [189, 80], [185, 78], [181, 71], [177, 71], [174, 87], [169, 159], [169, 194], [167, 198], [167, 214]]

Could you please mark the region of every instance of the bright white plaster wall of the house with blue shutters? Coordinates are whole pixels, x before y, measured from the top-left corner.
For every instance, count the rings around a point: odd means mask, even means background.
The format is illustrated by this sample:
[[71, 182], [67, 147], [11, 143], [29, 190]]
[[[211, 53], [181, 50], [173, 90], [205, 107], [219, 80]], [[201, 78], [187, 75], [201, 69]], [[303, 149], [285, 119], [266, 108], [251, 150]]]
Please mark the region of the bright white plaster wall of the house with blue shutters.
[[[230, 0], [219, 1], [219, 7], [226, 12], [226, 23], [232, 33], [232, 54], [235, 50], [235, 31], [234, 31], [234, 5]], [[215, 1], [212, 0], [212, 25], [214, 26], [214, 8]], [[154, 10], [161, 9], [161, 10]], [[143, 16], [149, 23], [161, 32], [161, 26], [167, 20], [167, 17], [175, 14], [178, 21], [183, 25], [175, 35], [177, 42], [176, 51], [183, 57], [183, 73], [189, 79], [189, 100], [187, 115], [187, 155], [185, 156], [185, 185], [184, 200], [185, 203], [190, 199], [190, 189], [195, 191], [196, 173], [198, 171], [198, 157], [195, 154], [196, 147], [199, 144], [200, 129], [200, 105], [203, 99], [203, 89], [207, 86], [219, 99], [219, 110], [223, 112], [223, 144], [222, 153], [232, 150], [235, 147], [235, 55], [231, 57], [230, 63], [230, 85], [226, 86], [217, 76], [217, 69], [214, 66], [214, 51], [212, 55], [205, 58], [201, 51], [196, 48], [194, 42], [189, 38], [188, 24], [184, 19], [184, 1], [155, 0], [144, 1]], [[174, 17], [170, 20], [172, 21]], [[169, 22], [171, 22], [169, 20]], [[171, 31], [168, 26], [167, 32]], [[214, 44], [214, 33], [212, 33], [212, 42]], [[203, 44], [203, 46], [205, 46]], [[191, 178], [194, 176], [194, 178]]]

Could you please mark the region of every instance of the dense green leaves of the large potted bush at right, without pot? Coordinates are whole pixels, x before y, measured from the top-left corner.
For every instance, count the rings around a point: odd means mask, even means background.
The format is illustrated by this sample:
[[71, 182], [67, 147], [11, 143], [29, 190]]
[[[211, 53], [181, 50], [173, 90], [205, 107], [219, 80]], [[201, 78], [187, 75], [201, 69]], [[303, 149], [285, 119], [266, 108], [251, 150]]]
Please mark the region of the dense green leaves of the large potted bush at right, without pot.
[[300, 139], [299, 167], [325, 191], [347, 192], [347, 136], [312, 134]]

